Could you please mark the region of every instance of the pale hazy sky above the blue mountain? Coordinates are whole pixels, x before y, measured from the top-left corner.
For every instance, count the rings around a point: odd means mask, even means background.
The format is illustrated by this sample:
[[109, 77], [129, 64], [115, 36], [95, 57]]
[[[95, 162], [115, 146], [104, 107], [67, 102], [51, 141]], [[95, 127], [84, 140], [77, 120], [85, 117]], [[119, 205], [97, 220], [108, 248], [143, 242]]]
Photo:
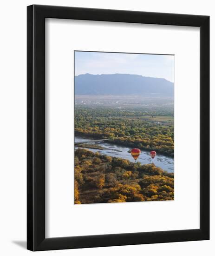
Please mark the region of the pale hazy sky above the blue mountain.
[[139, 74], [174, 82], [174, 56], [75, 52], [75, 75]]

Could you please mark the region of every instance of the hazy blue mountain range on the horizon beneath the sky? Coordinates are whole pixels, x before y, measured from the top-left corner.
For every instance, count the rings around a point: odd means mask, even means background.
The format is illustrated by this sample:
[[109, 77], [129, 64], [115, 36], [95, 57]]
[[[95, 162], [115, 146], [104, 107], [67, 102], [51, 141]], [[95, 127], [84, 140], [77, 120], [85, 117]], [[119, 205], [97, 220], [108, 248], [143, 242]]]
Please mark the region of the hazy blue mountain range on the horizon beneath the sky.
[[79, 74], [75, 76], [75, 94], [173, 96], [174, 83], [137, 74]]

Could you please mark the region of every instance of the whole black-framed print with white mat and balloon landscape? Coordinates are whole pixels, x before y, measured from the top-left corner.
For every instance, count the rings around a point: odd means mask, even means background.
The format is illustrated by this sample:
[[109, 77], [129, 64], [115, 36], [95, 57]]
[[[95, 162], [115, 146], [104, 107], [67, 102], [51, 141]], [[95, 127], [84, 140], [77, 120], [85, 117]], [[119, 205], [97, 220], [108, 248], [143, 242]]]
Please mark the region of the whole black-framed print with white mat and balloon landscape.
[[27, 7], [27, 249], [209, 239], [209, 17]]

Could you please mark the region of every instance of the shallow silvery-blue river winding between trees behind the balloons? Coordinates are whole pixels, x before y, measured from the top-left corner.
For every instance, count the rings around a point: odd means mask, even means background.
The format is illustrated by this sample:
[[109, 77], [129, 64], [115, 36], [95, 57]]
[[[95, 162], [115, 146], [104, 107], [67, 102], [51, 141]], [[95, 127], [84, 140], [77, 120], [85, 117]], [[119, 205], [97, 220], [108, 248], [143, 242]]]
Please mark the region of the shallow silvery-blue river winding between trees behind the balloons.
[[[85, 141], [91, 141], [90, 139], [85, 139], [82, 137], [75, 137], [75, 142], [85, 142]], [[100, 154], [103, 155], [110, 155], [110, 156], [115, 156], [115, 157], [120, 157], [120, 158], [124, 158], [127, 159], [131, 162], [134, 162], [133, 157], [130, 155], [130, 153], [128, 153], [128, 151], [131, 148], [127, 148], [124, 146], [119, 146], [116, 144], [111, 144], [111, 143], [99, 143], [99, 146], [104, 147], [105, 149], [101, 150], [101, 149], [94, 149], [94, 148], [86, 148], [88, 150], [91, 150], [92, 152], [99, 152]], [[75, 147], [75, 149], [77, 149], [78, 147]], [[115, 151], [118, 150], [118, 151]], [[121, 152], [119, 152], [121, 151]], [[151, 157], [150, 157], [150, 152], [149, 151], [141, 151], [141, 155], [138, 157], [137, 162], [140, 162], [141, 164], [147, 164], [147, 163], [151, 163]], [[157, 154], [156, 157], [154, 158], [154, 164], [157, 167], [162, 168], [164, 171], [167, 171], [169, 173], [174, 172], [174, 158], [172, 157], [168, 157], [165, 155], [160, 155]]]

